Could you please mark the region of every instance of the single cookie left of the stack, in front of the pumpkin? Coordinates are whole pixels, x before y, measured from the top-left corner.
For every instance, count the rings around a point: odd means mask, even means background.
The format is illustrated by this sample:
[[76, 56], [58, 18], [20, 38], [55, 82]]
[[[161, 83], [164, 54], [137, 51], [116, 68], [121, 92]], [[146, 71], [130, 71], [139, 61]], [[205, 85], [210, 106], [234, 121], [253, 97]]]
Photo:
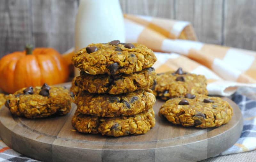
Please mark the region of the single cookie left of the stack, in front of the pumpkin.
[[63, 87], [44, 84], [42, 87], [22, 88], [6, 97], [5, 106], [11, 113], [26, 118], [65, 115], [71, 109], [72, 94]]

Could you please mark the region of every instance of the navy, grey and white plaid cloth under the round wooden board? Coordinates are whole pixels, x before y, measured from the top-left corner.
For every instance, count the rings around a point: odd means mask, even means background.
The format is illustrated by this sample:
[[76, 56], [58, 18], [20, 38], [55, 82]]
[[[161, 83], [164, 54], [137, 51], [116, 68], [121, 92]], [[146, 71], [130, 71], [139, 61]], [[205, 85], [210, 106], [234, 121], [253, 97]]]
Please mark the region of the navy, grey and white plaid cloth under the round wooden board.
[[[240, 107], [244, 128], [236, 144], [219, 156], [256, 149], [256, 88], [240, 88], [229, 98]], [[35, 162], [37, 160], [20, 155], [0, 141], [0, 161]]]

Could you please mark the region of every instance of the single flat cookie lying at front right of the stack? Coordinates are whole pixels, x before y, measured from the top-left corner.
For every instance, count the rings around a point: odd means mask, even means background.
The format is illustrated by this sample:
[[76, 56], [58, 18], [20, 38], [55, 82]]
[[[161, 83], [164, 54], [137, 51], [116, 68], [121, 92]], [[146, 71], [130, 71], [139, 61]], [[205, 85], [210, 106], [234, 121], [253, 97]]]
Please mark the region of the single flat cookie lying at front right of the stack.
[[159, 116], [173, 124], [197, 128], [219, 127], [227, 123], [233, 109], [219, 97], [186, 94], [186, 97], [169, 99], [159, 110]]

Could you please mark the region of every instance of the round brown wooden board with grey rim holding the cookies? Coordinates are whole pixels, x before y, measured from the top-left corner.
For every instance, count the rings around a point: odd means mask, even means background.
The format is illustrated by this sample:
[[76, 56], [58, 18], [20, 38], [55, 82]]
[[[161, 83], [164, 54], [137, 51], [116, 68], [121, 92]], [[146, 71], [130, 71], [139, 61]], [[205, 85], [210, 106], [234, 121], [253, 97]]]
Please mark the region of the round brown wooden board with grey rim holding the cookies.
[[[66, 85], [67, 87], [70, 85]], [[76, 106], [66, 116], [29, 120], [0, 110], [0, 136], [12, 149], [42, 161], [198, 161], [218, 155], [238, 140], [243, 119], [239, 107], [230, 99], [234, 115], [218, 128], [197, 129], [172, 125], [159, 118], [156, 125], [138, 136], [108, 137], [71, 131]]]

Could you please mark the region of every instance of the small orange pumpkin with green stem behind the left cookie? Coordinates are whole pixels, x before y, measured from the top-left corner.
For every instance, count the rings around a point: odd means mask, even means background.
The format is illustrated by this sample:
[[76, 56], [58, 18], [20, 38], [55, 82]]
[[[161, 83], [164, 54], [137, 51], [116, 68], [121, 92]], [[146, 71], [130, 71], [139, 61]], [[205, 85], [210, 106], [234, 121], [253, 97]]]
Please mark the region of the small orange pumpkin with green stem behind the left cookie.
[[54, 85], [68, 79], [68, 64], [53, 48], [27, 45], [0, 59], [0, 89], [8, 93], [28, 86]]

